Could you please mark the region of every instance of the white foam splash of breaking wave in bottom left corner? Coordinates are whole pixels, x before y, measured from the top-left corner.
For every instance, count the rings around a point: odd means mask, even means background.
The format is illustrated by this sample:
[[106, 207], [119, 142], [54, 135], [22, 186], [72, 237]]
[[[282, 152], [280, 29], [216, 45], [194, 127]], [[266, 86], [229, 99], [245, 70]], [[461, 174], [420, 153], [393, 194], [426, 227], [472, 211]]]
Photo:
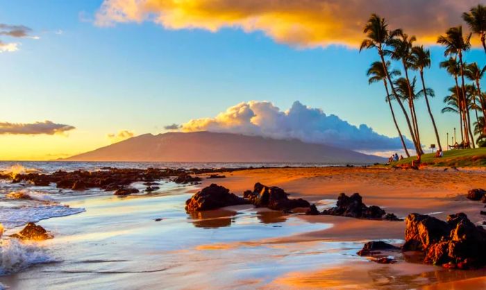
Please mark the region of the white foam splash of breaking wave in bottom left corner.
[[46, 250], [35, 242], [0, 239], [0, 275], [17, 273], [28, 266], [53, 261]]

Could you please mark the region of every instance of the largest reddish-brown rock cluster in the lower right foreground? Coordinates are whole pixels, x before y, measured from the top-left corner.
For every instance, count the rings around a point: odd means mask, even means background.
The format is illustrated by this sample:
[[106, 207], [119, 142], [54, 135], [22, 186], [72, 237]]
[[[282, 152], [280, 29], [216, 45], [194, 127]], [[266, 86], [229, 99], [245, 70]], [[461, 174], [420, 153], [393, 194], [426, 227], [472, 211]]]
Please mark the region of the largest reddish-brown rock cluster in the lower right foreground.
[[486, 230], [466, 214], [449, 215], [447, 221], [409, 214], [405, 223], [402, 250], [423, 251], [425, 263], [460, 269], [486, 265]]

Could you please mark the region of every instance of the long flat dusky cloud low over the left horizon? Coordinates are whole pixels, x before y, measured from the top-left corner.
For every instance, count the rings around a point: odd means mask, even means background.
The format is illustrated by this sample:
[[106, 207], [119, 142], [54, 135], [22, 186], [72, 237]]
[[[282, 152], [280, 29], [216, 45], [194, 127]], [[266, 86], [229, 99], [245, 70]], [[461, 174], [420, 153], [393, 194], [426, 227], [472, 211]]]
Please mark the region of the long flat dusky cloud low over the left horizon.
[[74, 130], [74, 126], [43, 121], [35, 123], [9, 123], [0, 122], [0, 135], [62, 135], [69, 130]]

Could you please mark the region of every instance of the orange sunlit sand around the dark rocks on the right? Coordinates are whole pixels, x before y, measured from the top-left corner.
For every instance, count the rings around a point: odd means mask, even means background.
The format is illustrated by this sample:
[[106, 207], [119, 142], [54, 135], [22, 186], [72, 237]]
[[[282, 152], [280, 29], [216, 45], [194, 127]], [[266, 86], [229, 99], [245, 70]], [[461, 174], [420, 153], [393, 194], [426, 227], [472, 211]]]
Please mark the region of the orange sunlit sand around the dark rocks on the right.
[[[378, 205], [399, 217], [417, 212], [446, 219], [448, 214], [464, 212], [481, 225], [484, 205], [469, 201], [469, 189], [486, 187], [486, 171], [460, 169], [374, 169], [374, 168], [301, 168], [253, 169], [226, 174], [217, 180], [235, 194], [251, 189], [255, 182], [282, 187], [294, 198], [305, 198], [319, 204], [335, 201], [341, 192], [358, 192], [367, 205]], [[204, 180], [203, 186], [215, 180]], [[403, 239], [405, 223], [367, 221], [340, 216], [299, 216], [310, 223], [331, 223], [333, 227], [292, 237], [267, 239], [269, 244], [305, 243], [307, 241], [369, 241]], [[386, 275], [384, 274], [386, 273]], [[482, 289], [486, 269], [451, 271], [440, 267], [401, 262], [378, 265], [369, 262], [343, 264], [334, 268], [288, 273], [274, 280], [275, 287], [329, 289], [376, 289], [393, 285], [399, 288]], [[397, 282], [396, 279], [401, 279]], [[397, 284], [398, 283], [398, 284]], [[427, 285], [427, 286], [426, 286]]]

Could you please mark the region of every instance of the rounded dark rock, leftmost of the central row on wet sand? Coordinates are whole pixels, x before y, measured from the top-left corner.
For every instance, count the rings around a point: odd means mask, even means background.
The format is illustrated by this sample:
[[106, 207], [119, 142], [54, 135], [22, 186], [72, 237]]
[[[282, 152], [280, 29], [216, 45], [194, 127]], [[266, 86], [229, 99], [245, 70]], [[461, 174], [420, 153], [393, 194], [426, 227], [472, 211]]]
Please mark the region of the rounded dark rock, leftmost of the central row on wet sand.
[[245, 205], [248, 203], [249, 201], [246, 201], [244, 198], [231, 194], [226, 187], [213, 183], [185, 201], [185, 210], [187, 212], [216, 210], [219, 207]]

